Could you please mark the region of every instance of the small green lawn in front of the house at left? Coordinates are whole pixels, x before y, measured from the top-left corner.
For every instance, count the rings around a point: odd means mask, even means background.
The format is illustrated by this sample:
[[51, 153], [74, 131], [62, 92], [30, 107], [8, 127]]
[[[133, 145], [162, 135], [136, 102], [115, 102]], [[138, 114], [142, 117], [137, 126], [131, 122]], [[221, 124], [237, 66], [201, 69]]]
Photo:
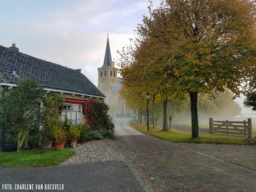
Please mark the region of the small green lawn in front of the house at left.
[[27, 168], [34, 166], [59, 165], [75, 155], [76, 151], [63, 150], [22, 150], [21, 152], [0, 152], [0, 166]]

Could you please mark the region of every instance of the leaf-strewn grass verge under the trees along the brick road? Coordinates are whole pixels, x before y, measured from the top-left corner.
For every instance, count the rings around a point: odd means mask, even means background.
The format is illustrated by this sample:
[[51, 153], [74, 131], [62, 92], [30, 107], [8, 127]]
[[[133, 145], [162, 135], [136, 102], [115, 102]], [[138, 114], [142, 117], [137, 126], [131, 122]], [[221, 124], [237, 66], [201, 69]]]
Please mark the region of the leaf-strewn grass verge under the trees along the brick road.
[[[226, 136], [224, 134], [199, 134], [199, 138], [192, 139], [191, 132], [189, 131], [177, 131], [169, 130], [162, 131], [160, 127], [150, 127], [150, 131], [147, 132], [147, 126], [138, 125], [130, 121], [130, 125], [136, 130], [143, 132], [147, 135], [159, 137], [160, 139], [170, 142], [196, 142], [205, 144], [235, 144], [235, 145], [252, 145], [256, 144], [256, 139], [247, 139], [244, 137]], [[151, 134], [152, 129], [152, 134]]]

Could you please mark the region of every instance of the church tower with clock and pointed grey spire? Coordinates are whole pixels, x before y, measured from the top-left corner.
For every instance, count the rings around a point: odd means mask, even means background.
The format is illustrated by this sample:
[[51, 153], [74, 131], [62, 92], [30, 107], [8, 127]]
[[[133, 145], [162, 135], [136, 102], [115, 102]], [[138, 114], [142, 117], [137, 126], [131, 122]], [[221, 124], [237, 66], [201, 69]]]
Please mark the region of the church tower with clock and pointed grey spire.
[[109, 45], [109, 35], [107, 36], [107, 45], [105, 51], [105, 57], [102, 67], [98, 68], [98, 86], [97, 88], [104, 93], [107, 97], [105, 102], [110, 105], [108, 98], [112, 94], [111, 85], [117, 85], [118, 68], [115, 67], [115, 62], [112, 61], [110, 45]]

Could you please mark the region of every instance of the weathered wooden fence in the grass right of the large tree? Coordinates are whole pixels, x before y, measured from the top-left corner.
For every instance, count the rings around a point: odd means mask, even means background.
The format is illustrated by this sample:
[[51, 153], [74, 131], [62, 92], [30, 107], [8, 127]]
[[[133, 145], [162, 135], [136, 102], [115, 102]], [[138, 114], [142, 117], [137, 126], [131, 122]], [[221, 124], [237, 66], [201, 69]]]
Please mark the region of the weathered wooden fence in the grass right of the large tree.
[[210, 133], [244, 135], [244, 137], [252, 138], [252, 119], [247, 119], [247, 121], [214, 121], [213, 118], [210, 118], [209, 126]]

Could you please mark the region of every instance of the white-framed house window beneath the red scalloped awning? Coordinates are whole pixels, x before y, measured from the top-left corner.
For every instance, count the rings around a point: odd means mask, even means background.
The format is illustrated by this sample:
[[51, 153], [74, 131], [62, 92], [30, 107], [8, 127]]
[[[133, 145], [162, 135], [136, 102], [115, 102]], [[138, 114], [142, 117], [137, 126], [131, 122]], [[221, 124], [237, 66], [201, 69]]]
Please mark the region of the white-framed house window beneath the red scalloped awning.
[[65, 115], [67, 119], [73, 122], [73, 125], [81, 124], [82, 117], [82, 105], [79, 104], [64, 104], [63, 110], [61, 113], [61, 119], [65, 119]]

